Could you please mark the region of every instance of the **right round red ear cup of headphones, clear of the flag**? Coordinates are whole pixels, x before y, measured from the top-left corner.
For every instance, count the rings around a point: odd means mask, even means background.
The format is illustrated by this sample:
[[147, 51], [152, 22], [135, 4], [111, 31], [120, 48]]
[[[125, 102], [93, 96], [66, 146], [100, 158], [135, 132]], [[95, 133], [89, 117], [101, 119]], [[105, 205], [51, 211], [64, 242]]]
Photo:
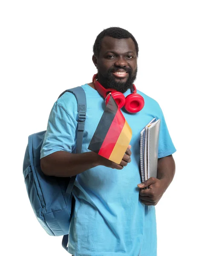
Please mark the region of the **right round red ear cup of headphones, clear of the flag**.
[[124, 108], [129, 113], [137, 113], [144, 107], [144, 99], [138, 93], [129, 94], [126, 97]]

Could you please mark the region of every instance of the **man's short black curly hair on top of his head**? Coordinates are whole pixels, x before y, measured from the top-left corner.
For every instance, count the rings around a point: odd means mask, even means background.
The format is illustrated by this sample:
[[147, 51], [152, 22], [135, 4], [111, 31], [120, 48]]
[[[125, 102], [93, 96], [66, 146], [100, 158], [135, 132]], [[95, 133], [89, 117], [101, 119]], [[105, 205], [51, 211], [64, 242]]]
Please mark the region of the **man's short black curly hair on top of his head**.
[[128, 32], [126, 29], [121, 29], [119, 27], [110, 27], [108, 29], [104, 29], [96, 38], [95, 44], [93, 46], [93, 52], [96, 57], [99, 56], [100, 50], [101, 50], [101, 41], [105, 36], [110, 36], [112, 38], [132, 38], [134, 41], [135, 47], [136, 47], [136, 54], [138, 56], [138, 44], [137, 41], [135, 40], [134, 36]]

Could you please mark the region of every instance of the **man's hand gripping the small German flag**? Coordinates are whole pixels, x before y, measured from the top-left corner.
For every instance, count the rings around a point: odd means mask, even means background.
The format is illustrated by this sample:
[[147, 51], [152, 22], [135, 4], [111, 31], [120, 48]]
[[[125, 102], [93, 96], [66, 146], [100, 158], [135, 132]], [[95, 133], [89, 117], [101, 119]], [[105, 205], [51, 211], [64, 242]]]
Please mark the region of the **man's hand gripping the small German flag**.
[[99, 165], [103, 165], [103, 166], [106, 166], [106, 167], [109, 167], [109, 168], [112, 168], [112, 169], [118, 169], [118, 170], [123, 169], [124, 166], [127, 166], [127, 164], [131, 162], [131, 159], [130, 159], [131, 151], [130, 151], [130, 149], [131, 149], [131, 145], [128, 146], [120, 164], [114, 163], [114, 162], [98, 155], [99, 161], [100, 161]]

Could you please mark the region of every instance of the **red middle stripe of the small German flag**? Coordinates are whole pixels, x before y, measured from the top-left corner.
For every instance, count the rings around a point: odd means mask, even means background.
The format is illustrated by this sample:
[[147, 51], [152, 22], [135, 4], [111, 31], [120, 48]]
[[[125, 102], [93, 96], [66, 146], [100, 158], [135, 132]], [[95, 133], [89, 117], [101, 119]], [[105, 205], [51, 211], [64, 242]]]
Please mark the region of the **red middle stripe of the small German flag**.
[[118, 111], [116, 112], [116, 115], [104, 139], [104, 142], [102, 143], [101, 148], [98, 152], [99, 155], [109, 159], [112, 153], [112, 150], [115, 147], [115, 144], [118, 140], [118, 137], [121, 134], [124, 124], [125, 124], [125, 118], [121, 113], [121, 110], [118, 108]]

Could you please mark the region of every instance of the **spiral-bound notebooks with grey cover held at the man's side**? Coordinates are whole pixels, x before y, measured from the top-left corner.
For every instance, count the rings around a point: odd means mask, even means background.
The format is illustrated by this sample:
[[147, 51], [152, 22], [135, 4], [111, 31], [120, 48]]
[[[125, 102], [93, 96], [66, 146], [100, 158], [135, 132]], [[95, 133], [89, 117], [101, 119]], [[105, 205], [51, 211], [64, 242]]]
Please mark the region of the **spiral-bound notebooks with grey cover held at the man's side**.
[[140, 167], [142, 182], [157, 177], [160, 119], [153, 118], [140, 133]]

